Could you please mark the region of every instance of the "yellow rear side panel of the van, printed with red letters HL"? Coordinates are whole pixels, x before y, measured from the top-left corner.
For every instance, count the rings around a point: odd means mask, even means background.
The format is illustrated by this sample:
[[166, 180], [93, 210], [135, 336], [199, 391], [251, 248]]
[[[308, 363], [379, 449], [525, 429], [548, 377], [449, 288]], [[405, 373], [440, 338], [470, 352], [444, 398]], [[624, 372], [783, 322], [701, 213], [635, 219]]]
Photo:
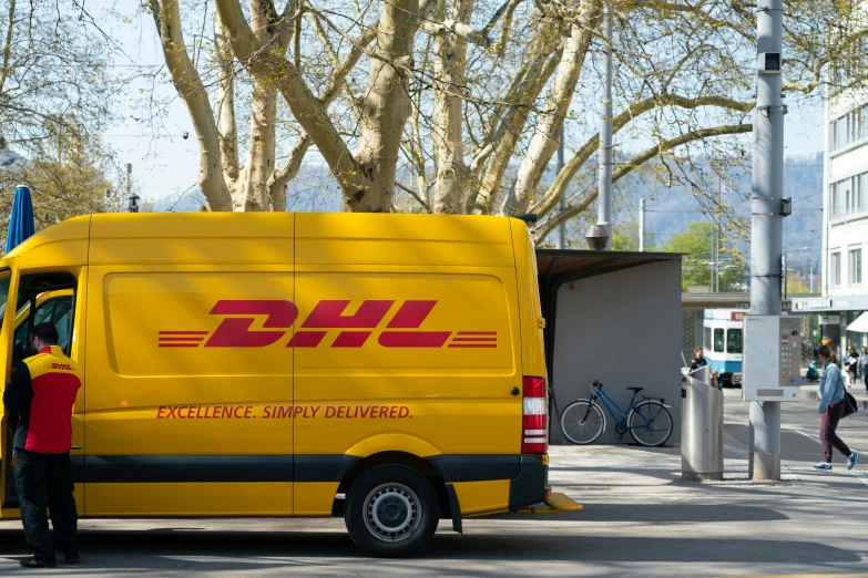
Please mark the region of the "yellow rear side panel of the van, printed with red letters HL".
[[[518, 460], [508, 221], [299, 214], [296, 227], [295, 398], [317, 412], [295, 421], [296, 485], [339, 481], [348, 456], [378, 451]], [[457, 482], [501, 475], [441, 463]]]

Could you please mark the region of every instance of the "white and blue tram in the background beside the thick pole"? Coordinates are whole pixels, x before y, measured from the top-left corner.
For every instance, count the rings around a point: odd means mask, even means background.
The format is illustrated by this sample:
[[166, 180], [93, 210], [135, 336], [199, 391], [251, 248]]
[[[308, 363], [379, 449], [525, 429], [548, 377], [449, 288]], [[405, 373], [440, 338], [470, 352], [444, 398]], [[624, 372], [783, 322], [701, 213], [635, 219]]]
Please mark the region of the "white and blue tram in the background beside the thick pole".
[[706, 309], [703, 316], [703, 353], [723, 385], [742, 384], [744, 309]]

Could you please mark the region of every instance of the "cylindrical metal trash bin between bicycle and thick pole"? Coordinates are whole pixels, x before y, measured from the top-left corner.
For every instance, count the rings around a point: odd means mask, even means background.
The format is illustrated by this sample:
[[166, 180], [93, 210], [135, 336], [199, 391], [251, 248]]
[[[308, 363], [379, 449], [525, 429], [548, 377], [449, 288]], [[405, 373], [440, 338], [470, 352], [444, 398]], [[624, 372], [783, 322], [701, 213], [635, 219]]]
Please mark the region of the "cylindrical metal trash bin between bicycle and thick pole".
[[723, 391], [711, 369], [684, 375], [681, 404], [681, 472], [684, 479], [723, 479]]

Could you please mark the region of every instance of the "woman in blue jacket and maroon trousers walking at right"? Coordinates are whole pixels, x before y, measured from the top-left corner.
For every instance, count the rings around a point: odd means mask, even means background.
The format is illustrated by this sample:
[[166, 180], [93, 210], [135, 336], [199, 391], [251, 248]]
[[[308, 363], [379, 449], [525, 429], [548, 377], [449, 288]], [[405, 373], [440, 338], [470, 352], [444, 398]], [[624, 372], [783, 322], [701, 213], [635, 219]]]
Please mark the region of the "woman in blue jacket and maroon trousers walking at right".
[[837, 364], [838, 360], [828, 345], [820, 348], [819, 358], [820, 363], [824, 365], [823, 379], [820, 379], [819, 384], [820, 403], [817, 409], [820, 414], [823, 462], [814, 467], [821, 472], [831, 469], [831, 448], [835, 447], [843, 455], [847, 456], [847, 469], [852, 469], [859, 455], [856, 452], [851, 452], [847, 444], [835, 433], [838, 422], [844, 416], [846, 404], [844, 400], [844, 376]]

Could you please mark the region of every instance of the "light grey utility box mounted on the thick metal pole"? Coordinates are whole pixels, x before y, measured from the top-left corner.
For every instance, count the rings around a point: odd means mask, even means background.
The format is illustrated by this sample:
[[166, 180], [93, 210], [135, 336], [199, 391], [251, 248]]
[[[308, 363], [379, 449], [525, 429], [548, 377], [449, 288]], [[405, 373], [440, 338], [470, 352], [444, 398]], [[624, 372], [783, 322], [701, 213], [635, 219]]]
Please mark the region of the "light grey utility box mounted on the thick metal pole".
[[745, 316], [742, 400], [801, 398], [801, 319]]

